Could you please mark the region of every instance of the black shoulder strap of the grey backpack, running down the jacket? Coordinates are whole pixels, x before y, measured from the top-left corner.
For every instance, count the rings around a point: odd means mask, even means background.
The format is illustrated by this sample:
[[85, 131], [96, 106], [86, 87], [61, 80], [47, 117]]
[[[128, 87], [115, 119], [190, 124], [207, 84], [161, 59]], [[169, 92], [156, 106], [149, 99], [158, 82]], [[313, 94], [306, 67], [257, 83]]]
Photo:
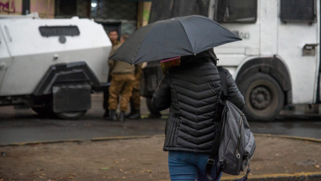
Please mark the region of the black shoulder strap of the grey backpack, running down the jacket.
[[[220, 78], [221, 78], [221, 83], [222, 83], [222, 89], [223, 89], [223, 94], [224, 94], [224, 101], [227, 100], [227, 96], [228, 96], [228, 89], [227, 89], [227, 80], [226, 80], [226, 75], [224, 72], [224, 69], [222, 66], [217, 67], [217, 70], [220, 73]], [[220, 99], [221, 102], [221, 99]], [[223, 103], [223, 102], [221, 102]], [[224, 111], [223, 111], [224, 113]], [[214, 138], [214, 142], [212, 145], [212, 149], [211, 149], [211, 153], [210, 153], [210, 158], [207, 160], [207, 164], [206, 164], [206, 176], [209, 180], [217, 180], [221, 174], [222, 171], [222, 167], [219, 167], [218, 169], [215, 169], [216, 174], [215, 174], [215, 178], [213, 179], [211, 176], [211, 170], [212, 167], [215, 163], [218, 163], [218, 153], [219, 153], [219, 145], [220, 145], [220, 140], [221, 140], [221, 134], [222, 134], [222, 129], [223, 129], [223, 123], [224, 123], [224, 118], [222, 117], [219, 127], [216, 130], [216, 134], [215, 134], [215, 138]], [[215, 160], [215, 158], [217, 160]]]

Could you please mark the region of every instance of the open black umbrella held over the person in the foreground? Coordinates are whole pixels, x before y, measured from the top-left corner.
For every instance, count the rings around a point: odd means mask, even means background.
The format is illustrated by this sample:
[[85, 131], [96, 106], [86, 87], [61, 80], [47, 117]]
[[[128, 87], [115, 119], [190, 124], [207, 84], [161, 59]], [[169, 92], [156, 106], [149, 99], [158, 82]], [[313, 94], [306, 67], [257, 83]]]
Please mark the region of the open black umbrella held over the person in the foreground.
[[239, 40], [239, 36], [205, 16], [182, 16], [136, 30], [109, 59], [137, 64], [197, 54]]

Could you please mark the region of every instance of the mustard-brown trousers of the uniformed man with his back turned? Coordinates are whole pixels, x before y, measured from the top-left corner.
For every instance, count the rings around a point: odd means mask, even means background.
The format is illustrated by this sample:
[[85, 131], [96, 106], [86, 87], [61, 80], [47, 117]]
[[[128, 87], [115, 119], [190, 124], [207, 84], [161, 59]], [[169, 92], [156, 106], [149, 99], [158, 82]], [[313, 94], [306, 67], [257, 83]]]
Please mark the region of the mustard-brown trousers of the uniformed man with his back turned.
[[109, 87], [108, 109], [116, 110], [118, 98], [120, 100], [120, 110], [127, 111], [129, 99], [132, 96], [133, 83], [135, 77], [132, 74], [113, 74]]

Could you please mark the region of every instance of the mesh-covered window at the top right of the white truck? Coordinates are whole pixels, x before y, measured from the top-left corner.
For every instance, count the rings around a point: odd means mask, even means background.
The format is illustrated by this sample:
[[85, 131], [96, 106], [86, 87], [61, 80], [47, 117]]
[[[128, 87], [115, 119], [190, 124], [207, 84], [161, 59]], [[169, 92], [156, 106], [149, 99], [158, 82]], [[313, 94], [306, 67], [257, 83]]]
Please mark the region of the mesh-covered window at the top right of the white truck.
[[316, 23], [316, 0], [281, 0], [280, 18], [286, 22]]

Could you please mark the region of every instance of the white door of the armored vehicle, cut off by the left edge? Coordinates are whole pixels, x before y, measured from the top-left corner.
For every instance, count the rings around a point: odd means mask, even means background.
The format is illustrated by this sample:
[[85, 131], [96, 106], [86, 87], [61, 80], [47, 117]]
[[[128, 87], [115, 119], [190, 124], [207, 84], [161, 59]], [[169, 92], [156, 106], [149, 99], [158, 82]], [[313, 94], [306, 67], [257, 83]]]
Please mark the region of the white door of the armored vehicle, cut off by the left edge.
[[1, 28], [1, 24], [0, 24], [0, 96], [2, 96], [1, 90], [2, 90], [2, 83], [4, 81], [5, 73], [8, 70], [8, 67], [12, 60], [6, 45], [6, 41], [4, 39], [4, 35], [5, 35], [4, 33], [5, 32]]

